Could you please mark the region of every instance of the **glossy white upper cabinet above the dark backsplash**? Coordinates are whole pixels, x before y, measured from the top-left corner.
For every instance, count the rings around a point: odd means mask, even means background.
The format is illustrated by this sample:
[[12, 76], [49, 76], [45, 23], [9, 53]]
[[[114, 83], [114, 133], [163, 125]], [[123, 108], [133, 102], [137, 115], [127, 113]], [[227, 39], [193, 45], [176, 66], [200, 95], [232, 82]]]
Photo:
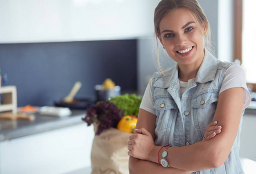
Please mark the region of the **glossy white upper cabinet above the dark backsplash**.
[[0, 0], [0, 43], [127, 39], [154, 34], [160, 0]]

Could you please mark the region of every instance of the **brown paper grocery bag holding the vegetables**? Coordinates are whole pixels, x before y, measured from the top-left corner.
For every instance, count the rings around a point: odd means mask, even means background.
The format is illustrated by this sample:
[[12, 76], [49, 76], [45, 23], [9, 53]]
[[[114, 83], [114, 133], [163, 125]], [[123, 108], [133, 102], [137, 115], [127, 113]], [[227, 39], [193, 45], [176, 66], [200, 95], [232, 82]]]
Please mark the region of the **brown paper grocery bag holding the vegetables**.
[[[96, 133], [98, 125], [93, 126]], [[92, 174], [129, 173], [127, 146], [131, 135], [115, 128], [95, 135], [91, 151]]]

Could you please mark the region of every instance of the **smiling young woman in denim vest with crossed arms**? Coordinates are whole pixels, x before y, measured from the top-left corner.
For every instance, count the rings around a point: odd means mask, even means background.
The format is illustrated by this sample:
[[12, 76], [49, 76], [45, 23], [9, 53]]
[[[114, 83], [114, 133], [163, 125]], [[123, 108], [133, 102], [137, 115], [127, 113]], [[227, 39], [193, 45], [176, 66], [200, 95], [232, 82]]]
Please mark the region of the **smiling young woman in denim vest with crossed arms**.
[[251, 100], [243, 69], [208, 51], [210, 26], [196, 0], [161, 1], [154, 26], [176, 66], [147, 85], [128, 142], [129, 172], [243, 173], [239, 136]]

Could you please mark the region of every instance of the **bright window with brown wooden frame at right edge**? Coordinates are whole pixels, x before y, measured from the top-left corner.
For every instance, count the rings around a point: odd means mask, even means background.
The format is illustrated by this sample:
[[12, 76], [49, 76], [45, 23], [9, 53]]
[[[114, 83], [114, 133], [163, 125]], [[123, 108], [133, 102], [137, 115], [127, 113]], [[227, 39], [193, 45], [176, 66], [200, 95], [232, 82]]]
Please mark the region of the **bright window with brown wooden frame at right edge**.
[[255, 0], [235, 0], [235, 59], [239, 59], [246, 71], [247, 84], [256, 91], [256, 24]]

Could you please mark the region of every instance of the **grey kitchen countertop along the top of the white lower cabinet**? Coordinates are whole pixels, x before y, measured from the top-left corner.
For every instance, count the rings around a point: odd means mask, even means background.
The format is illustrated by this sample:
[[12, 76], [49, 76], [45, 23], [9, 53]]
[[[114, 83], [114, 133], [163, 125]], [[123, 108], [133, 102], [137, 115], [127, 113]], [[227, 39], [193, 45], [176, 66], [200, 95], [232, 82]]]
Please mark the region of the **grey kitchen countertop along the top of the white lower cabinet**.
[[71, 111], [72, 114], [66, 117], [34, 114], [34, 121], [0, 119], [0, 142], [84, 123], [81, 118], [85, 116], [85, 110]]

